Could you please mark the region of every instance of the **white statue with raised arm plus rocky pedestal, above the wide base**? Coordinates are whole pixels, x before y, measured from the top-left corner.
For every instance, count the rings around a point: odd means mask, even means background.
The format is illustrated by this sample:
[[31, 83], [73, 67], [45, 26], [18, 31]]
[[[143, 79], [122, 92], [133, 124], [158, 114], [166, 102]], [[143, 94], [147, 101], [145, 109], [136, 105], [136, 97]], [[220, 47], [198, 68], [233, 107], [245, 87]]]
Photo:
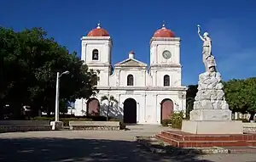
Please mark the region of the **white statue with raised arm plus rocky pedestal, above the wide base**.
[[205, 32], [201, 36], [200, 25], [197, 25], [198, 36], [203, 41], [202, 61], [206, 71], [199, 75], [198, 92], [195, 96], [194, 110], [190, 120], [231, 120], [231, 112], [224, 98], [221, 75], [216, 70], [216, 61], [212, 56], [212, 40]]

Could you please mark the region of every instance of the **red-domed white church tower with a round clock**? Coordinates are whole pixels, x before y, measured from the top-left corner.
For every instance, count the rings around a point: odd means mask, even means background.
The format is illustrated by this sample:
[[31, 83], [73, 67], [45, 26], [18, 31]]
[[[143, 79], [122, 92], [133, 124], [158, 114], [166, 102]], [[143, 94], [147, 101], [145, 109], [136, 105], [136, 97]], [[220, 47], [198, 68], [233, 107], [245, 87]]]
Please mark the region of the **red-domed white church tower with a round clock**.
[[154, 32], [150, 40], [150, 68], [155, 87], [180, 87], [180, 38], [166, 25]]

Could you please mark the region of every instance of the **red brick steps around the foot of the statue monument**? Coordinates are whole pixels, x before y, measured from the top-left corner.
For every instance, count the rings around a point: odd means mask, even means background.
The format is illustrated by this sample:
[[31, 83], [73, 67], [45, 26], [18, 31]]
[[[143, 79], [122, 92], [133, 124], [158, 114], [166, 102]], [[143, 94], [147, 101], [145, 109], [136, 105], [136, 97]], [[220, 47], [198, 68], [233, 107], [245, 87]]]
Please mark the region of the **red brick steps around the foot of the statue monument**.
[[178, 148], [256, 146], [256, 134], [195, 135], [183, 131], [162, 131], [156, 138]]

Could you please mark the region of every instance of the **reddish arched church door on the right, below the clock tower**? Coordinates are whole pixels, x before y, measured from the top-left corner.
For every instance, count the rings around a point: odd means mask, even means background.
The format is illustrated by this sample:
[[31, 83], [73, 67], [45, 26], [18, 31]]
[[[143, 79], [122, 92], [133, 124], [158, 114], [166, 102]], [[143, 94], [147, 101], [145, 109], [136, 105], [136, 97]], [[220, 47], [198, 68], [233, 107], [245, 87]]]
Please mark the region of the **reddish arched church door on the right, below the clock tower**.
[[171, 115], [173, 114], [173, 102], [171, 99], [164, 99], [161, 102], [161, 121], [170, 119]]

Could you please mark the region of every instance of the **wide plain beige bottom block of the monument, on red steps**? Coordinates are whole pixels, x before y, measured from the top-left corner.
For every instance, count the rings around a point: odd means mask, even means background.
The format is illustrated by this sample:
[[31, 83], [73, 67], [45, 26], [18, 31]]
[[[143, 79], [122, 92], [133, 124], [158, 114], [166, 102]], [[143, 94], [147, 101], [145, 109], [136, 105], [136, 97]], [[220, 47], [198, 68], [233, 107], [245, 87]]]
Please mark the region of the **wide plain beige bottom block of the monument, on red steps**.
[[242, 134], [241, 120], [183, 120], [182, 131], [193, 134]]

